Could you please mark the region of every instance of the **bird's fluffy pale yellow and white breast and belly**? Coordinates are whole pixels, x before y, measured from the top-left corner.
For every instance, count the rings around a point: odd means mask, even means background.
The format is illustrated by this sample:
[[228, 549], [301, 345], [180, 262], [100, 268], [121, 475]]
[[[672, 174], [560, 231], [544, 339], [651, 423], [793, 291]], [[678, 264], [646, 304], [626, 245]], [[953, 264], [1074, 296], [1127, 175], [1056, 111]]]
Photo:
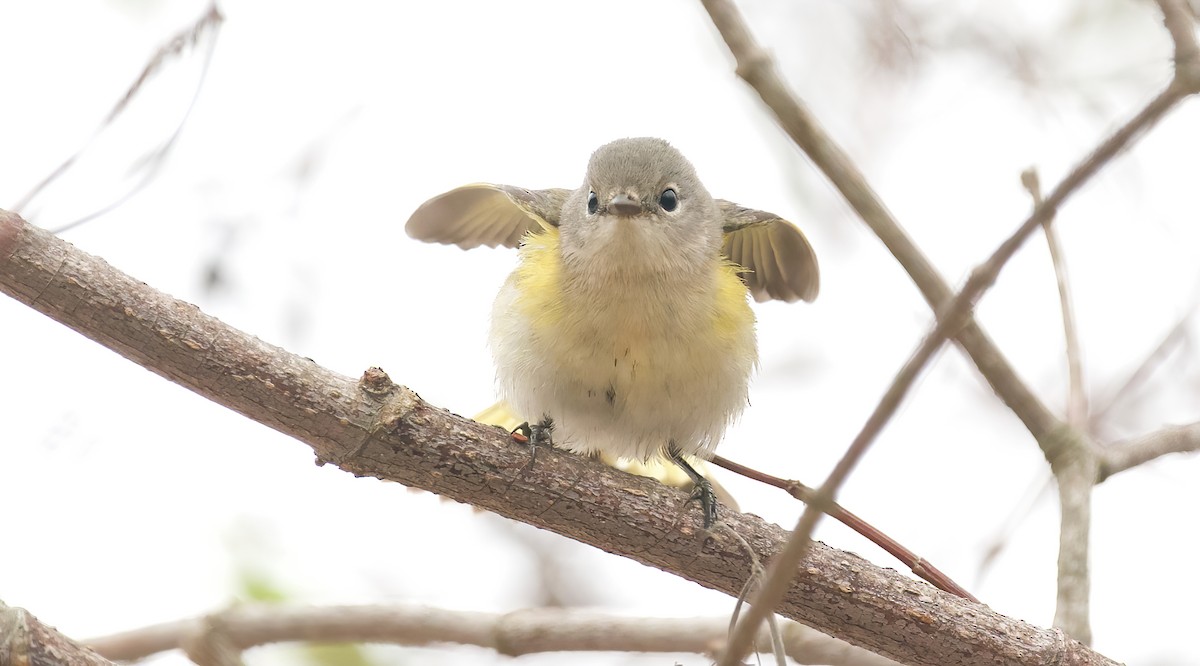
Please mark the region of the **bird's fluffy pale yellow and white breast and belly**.
[[[500, 392], [523, 418], [553, 419], [556, 444], [575, 451], [648, 458], [673, 442], [709, 454], [745, 407], [756, 362], [737, 289], [740, 301], [710, 290], [664, 305], [631, 287], [564, 307], [530, 304], [514, 274], [492, 313]], [[744, 325], [722, 326], [728, 317]]]

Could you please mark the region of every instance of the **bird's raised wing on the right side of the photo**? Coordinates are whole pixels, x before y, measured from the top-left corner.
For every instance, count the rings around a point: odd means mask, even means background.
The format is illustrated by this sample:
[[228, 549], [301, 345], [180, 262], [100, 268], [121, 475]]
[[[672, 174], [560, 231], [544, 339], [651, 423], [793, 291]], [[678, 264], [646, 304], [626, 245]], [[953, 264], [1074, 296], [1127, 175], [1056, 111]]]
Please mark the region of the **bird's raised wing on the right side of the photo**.
[[743, 266], [742, 280], [756, 301], [812, 301], [821, 287], [817, 256], [791, 222], [761, 210], [716, 200], [725, 221], [721, 252]]

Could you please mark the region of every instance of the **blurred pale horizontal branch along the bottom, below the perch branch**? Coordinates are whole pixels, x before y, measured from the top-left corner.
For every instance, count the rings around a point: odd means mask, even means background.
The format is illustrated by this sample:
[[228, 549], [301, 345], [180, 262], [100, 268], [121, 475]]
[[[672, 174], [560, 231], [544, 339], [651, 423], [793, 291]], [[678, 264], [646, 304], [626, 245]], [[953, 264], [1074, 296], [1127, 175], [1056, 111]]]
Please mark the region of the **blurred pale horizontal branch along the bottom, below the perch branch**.
[[[396, 606], [238, 606], [203, 618], [168, 622], [84, 641], [120, 661], [182, 648], [214, 626], [239, 649], [286, 641], [371, 642], [401, 646], [458, 643], [509, 656], [546, 652], [658, 652], [714, 654], [728, 618], [626, 618], [577, 608], [526, 608], [509, 613]], [[758, 644], [767, 646], [766, 630]], [[804, 626], [784, 626], [787, 656], [797, 664], [898, 666]]]

